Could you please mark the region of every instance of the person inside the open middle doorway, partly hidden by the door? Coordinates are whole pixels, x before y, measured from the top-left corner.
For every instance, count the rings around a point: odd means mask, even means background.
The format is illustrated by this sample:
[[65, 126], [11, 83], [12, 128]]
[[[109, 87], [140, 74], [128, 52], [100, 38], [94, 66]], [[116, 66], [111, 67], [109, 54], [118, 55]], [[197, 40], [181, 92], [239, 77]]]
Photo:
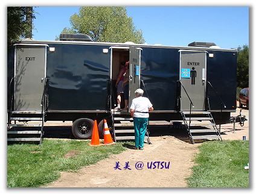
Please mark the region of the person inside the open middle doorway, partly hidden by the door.
[[115, 107], [115, 110], [120, 110], [121, 93], [124, 93], [123, 81], [124, 81], [124, 73], [126, 72], [126, 67], [124, 65], [125, 63], [121, 62], [120, 64], [121, 69], [117, 77], [117, 83], [115, 84], [115, 87], [117, 87], [117, 107]]

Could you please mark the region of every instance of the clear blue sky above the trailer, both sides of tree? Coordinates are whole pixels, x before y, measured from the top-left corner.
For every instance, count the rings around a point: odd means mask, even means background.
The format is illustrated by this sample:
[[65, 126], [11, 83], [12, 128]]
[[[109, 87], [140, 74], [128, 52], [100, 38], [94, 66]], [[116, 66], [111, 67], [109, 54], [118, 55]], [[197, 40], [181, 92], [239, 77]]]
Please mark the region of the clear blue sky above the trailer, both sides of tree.
[[[249, 7], [126, 7], [148, 45], [214, 42], [221, 48], [249, 45]], [[36, 40], [55, 40], [79, 7], [36, 7]]]

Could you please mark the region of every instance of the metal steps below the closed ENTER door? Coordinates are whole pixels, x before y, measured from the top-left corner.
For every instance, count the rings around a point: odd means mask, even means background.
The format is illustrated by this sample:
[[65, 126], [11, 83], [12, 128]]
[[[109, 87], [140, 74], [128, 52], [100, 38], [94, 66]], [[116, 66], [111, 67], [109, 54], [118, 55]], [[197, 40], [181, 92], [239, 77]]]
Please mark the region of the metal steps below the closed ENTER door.
[[192, 143], [203, 139], [222, 140], [210, 111], [181, 111], [181, 114]]

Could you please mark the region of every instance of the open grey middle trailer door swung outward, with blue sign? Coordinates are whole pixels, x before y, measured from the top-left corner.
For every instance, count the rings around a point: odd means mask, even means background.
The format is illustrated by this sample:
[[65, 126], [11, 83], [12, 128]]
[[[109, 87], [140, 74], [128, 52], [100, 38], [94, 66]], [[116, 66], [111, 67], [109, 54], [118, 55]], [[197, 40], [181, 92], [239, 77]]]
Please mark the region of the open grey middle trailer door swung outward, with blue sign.
[[141, 48], [130, 46], [129, 54], [129, 108], [132, 100], [136, 98], [135, 91], [140, 87], [141, 79]]

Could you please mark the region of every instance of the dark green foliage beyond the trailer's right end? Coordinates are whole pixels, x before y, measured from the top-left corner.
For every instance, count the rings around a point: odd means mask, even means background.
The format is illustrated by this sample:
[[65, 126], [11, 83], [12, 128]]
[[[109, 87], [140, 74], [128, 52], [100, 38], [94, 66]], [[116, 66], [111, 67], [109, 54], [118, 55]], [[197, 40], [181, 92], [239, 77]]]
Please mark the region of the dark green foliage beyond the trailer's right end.
[[249, 46], [237, 48], [237, 87], [249, 87]]

